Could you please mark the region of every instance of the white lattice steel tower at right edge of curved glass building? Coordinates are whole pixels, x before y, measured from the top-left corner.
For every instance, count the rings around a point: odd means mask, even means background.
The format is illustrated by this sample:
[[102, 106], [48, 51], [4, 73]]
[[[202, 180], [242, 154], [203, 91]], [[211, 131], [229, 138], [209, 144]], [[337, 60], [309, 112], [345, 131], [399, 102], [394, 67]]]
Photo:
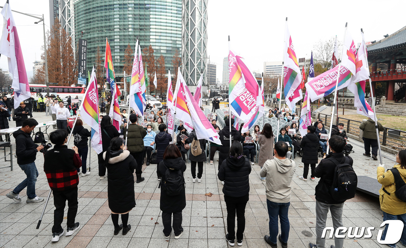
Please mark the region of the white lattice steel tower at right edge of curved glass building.
[[182, 0], [182, 64], [186, 84], [195, 85], [203, 69], [207, 85], [207, 0]]

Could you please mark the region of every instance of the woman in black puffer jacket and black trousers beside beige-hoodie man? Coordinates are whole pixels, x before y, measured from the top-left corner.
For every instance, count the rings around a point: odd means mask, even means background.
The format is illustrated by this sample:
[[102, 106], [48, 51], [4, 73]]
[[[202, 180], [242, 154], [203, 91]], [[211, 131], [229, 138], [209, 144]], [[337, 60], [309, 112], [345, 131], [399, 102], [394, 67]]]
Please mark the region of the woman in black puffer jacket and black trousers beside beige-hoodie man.
[[242, 234], [245, 229], [245, 206], [249, 200], [249, 175], [251, 165], [244, 157], [242, 145], [234, 141], [230, 147], [230, 154], [218, 170], [218, 179], [224, 181], [224, 201], [227, 205], [227, 242], [234, 245], [235, 213], [237, 213], [237, 244], [242, 245]]

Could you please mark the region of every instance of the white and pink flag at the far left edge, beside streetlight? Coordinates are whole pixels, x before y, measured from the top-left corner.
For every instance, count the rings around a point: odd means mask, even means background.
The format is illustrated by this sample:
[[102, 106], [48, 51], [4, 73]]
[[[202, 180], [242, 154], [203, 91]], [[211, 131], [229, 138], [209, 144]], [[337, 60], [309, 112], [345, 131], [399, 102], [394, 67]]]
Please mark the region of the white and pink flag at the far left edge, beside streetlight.
[[0, 39], [0, 54], [9, 60], [9, 72], [13, 75], [11, 88], [14, 90], [14, 108], [18, 108], [20, 102], [31, 97], [30, 86], [9, 1], [4, 4], [1, 14], [4, 17], [4, 29]]

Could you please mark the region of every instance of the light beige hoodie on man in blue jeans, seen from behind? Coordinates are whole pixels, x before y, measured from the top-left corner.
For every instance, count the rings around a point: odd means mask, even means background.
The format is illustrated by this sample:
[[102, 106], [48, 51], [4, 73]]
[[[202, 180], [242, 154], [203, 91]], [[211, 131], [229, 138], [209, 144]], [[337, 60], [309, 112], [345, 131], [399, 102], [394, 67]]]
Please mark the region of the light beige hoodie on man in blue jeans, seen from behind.
[[290, 202], [292, 177], [295, 174], [295, 162], [289, 158], [280, 160], [276, 157], [267, 160], [260, 171], [266, 177], [266, 198], [274, 203]]

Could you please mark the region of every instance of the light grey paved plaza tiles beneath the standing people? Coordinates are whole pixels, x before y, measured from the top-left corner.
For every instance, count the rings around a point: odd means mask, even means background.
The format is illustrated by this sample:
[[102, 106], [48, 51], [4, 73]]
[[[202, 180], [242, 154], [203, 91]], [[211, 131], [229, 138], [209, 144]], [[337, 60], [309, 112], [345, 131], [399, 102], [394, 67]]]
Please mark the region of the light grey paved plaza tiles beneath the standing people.
[[[39, 121], [45, 119], [34, 113]], [[45, 121], [45, 120], [44, 120]], [[13, 123], [13, 122], [12, 122]], [[14, 142], [14, 139], [12, 139]], [[365, 157], [363, 144], [351, 141], [355, 153], [354, 170], [358, 176], [376, 179], [378, 161]], [[392, 166], [394, 155], [383, 153], [386, 168]], [[201, 183], [192, 183], [190, 162], [185, 173], [186, 208], [183, 210], [184, 233], [175, 239], [173, 232], [166, 239], [162, 233], [162, 212], [159, 208], [160, 189], [156, 176], [156, 165], [143, 166], [145, 181], [135, 183], [136, 207], [130, 211], [128, 223], [132, 229], [127, 235], [113, 235], [113, 224], [107, 201], [107, 178], [99, 180], [97, 154], [91, 152], [91, 175], [79, 177], [78, 214], [80, 230], [72, 236], [62, 236], [56, 243], [51, 242], [53, 222], [53, 197], [45, 211], [41, 226], [36, 229], [45, 200], [41, 203], [26, 203], [26, 191], [20, 193], [21, 202], [15, 202], [5, 196], [10, 190], [26, 178], [24, 172], [16, 165], [0, 169], [0, 247], [4, 248], [225, 248], [227, 242], [227, 210], [222, 194], [222, 184], [217, 179], [217, 160], [215, 164], [204, 164]], [[304, 182], [298, 177], [303, 173], [301, 158], [296, 157], [296, 173], [292, 181], [291, 205], [289, 207], [290, 232], [288, 247], [308, 247], [315, 242], [315, 186], [316, 181]], [[57, 161], [56, 161], [57, 162]], [[0, 167], [9, 162], [0, 162]], [[46, 198], [49, 192], [48, 182], [43, 172], [43, 156], [37, 154], [39, 177], [36, 183], [37, 195]], [[250, 175], [250, 200], [246, 206], [246, 228], [242, 247], [270, 247], [263, 240], [269, 235], [268, 212], [264, 182], [259, 179], [259, 166], [255, 164]], [[135, 177], [135, 174], [134, 174]], [[135, 178], [134, 178], [135, 179]], [[65, 217], [67, 207], [65, 208]], [[344, 241], [345, 248], [385, 247], [378, 244], [376, 237], [382, 223], [382, 211], [377, 198], [358, 192], [355, 198], [346, 201], [343, 209], [343, 224], [346, 227], [374, 226], [371, 239], [349, 239]], [[66, 229], [66, 218], [62, 224]], [[326, 226], [332, 226], [330, 214]], [[326, 247], [334, 244], [334, 239], [326, 240]], [[400, 244], [400, 243], [398, 243]], [[235, 245], [237, 247], [237, 245]], [[281, 243], [278, 241], [278, 247]], [[386, 246], [387, 247], [387, 246]], [[400, 247], [403, 247], [400, 244]]]

